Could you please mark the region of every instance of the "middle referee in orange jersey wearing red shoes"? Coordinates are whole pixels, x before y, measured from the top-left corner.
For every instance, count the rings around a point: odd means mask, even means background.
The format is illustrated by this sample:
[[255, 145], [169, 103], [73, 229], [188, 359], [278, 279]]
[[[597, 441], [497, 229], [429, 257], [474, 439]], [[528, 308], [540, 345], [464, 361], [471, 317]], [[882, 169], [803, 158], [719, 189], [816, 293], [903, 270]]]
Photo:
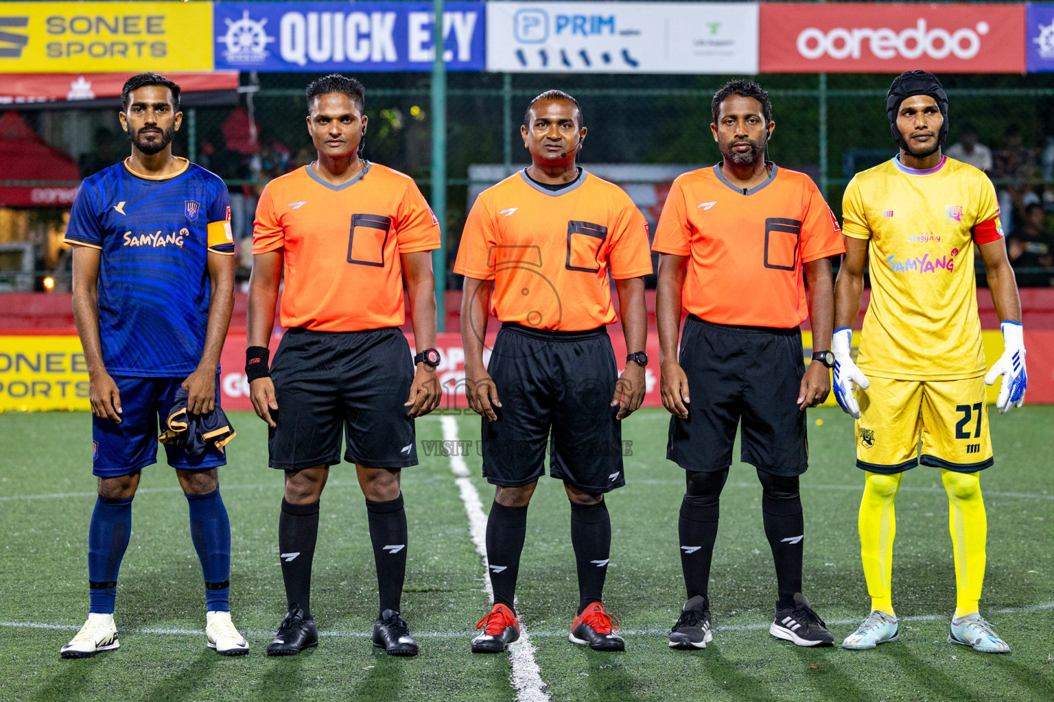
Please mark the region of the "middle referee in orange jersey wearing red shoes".
[[[579, 607], [570, 640], [622, 650], [602, 604], [611, 545], [604, 494], [625, 484], [620, 422], [644, 397], [647, 224], [622, 189], [575, 165], [586, 128], [571, 96], [534, 98], [521, 133], [531, 165], [480, 195], [454, 265], [465, 276], [468, 401], [483, 416], [483, 474], [496, 485], [487, 520], [494, 605], [472, 650], [499, 653], [520, 636], [516, 575], [547, 444], [549, 475], [571, 502]], [[616, 320], [609, 277], [630, 352], [621, 379], [605, 328]], [[502, 328], [484, 366], [488, 313]]]

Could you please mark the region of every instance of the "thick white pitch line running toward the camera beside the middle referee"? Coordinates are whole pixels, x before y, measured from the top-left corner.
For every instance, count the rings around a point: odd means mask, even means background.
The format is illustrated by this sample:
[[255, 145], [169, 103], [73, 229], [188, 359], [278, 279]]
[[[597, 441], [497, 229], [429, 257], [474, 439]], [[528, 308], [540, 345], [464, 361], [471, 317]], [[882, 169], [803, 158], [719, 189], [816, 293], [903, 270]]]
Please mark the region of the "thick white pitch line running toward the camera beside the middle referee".
[[[443, 417], [443, 439], [457, 441], [457, 420], [453, 417]], [[454, 452], [451, 452], [453, 454]], [[490, 568], [487, 563], [487, 515], [483, 513], [480, 493], [469, 479], [468, 465], [461, 456], [450, 456], [450, 470], [454, 474], [454, 482], [461, 490], [462, 502], [465, 503], [465, 514], [468, 515], [469, 534], [475, 551], [483, 560], [484, 590], [487, 598], [494, 601], [494, 589], [490, 584]], [[520, 639], [509, 646], [509, 666], [512, 669], [512, 685], [516, 688], [516, 700], [521, 702], [548, 702], [549, 695], [545, 691], [545, 681], [542, 671], [534, 660], [534, 646], [523, 621], [520, 622]]]

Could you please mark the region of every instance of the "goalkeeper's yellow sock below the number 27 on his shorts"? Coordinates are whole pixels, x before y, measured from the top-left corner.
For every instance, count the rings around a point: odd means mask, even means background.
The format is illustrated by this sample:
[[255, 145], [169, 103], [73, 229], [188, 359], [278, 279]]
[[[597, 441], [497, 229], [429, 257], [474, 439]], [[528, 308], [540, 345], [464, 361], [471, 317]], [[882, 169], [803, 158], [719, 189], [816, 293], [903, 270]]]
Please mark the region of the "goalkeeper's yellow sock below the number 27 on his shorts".
[[979, 473], [941, 468], [940, 478], [948, 492], [948, 524], [955, 549], [955, 616], [962, 617], [977, 611], [981, 599], [988, 519]]

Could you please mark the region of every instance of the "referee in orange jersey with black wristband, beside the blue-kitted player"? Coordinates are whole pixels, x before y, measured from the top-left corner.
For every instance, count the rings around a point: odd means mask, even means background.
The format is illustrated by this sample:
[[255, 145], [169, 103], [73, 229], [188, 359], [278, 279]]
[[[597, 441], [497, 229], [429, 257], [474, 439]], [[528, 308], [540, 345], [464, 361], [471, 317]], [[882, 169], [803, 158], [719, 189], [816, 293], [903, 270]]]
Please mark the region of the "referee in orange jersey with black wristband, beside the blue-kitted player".
[[[407, 561], [399, 470], [417, 464], [414, 417], [440, 402], [430, 253], [440, 246], [440, 227], [413, 180], [362, 158], [362, 83], [326, 76], [308, 86], [307, 98], [318, 158], [271, 181], [260, 196], [249, 284], [246, 373], [256, 414], [271, 427], [270, 465], [286, 473], [278, 546], [289, 610], [268, 655], [318, 644], [311, 562], [319, 497], [329, 466], [340, 462], [344, 435], [377, 567], [373, 644], [413, 656], [417, 644], [399, 614]], [[288, 330], [268, 368], [282, 276]], [[404, 284], [416, 357], [398, 328]]]

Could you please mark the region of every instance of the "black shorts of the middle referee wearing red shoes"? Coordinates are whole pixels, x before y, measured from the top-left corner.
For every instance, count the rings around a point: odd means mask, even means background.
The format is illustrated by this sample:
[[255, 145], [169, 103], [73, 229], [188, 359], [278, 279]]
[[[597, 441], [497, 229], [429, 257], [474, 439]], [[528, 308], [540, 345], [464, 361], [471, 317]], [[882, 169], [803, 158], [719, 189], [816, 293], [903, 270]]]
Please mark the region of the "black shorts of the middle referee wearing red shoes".
[[[545, 332], [505, 323], [488, 373], [497, 388], [497, 419], [483, 420], [483, 475], [520, 487], [545, 473], [587, 493], [626, 484], [622, 423], [611, 406], [619, 370], [604, 327]], [[551, 435], [550, 435], [551, 432]]]

